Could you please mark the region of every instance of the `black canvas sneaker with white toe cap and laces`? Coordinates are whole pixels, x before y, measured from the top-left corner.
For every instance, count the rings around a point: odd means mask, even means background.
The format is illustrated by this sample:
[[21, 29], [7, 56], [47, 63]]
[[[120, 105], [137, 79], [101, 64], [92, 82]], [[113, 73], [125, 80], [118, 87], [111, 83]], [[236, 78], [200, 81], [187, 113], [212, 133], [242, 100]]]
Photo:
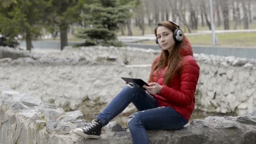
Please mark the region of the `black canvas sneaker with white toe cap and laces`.
[[95, 117], [90, 125], [86, 126], [85, 128], [76, 128], [74, 133], [85, 138], [99, 139], [101, 136], [101, 128], [102, 124], [100, 120]]

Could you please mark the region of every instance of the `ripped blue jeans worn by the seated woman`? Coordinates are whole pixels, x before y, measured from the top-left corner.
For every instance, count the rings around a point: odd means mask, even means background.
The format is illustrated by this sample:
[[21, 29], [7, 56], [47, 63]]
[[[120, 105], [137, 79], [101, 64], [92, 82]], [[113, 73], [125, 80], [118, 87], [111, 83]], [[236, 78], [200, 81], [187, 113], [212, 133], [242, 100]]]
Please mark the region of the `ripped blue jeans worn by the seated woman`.
[[186, 125], [178, 112], [171, 107], [158, 107], [155, 99], [136, 83], [128, 83], [96, 117], [105, 126], [131, 102], [139, 110], [128, 117], [134, 144], [149, 144], [146, 130], [176, 130]]

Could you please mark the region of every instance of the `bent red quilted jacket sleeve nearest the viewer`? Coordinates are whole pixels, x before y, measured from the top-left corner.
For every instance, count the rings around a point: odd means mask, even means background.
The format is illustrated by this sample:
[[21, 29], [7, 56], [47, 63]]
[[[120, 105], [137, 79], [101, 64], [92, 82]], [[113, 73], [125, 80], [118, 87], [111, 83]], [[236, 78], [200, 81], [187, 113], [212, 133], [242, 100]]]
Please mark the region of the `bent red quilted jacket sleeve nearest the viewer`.
[[194, 94], [199, 78], [199, 66], [192, 56], [184, 62], [180, 70], [180, 90], [175, 90], [163, 85], [159, 96], [178, 105], [189, 105], [194, 99]]

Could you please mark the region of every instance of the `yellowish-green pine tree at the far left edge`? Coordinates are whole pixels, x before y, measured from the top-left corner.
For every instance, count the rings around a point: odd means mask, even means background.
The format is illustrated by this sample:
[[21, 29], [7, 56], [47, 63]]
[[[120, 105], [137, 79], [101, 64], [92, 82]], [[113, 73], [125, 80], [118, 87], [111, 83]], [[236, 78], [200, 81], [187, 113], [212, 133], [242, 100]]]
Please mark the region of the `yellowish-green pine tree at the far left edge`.
[[0, 32], [8, 37], [22, 35], [27, 50], [32, 48], [32, 40], [41, 35], [40, 31], [47, 17], [45, 10], [51, 6], [50, 0], [13, 0], [1, 7]]

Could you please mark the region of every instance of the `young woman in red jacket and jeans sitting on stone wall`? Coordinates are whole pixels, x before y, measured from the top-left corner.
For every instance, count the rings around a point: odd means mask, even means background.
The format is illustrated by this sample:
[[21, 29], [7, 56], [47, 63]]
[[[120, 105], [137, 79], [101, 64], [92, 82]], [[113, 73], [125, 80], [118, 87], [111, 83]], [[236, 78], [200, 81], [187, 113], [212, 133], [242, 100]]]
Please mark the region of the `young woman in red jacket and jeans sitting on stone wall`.
[[101, 128], [131, 102], [139, 112], [128, 117], [134, 144], [149, 144], [146, 130], [177, 130], [189, 121], [195, 107], [199, 66], [179, 26], [162, 21], [155, 28], [156, 43], [162, 48], [152, 64], [149, 86], [128, 83], [90, 125], [74, 133], [98, 139]]

